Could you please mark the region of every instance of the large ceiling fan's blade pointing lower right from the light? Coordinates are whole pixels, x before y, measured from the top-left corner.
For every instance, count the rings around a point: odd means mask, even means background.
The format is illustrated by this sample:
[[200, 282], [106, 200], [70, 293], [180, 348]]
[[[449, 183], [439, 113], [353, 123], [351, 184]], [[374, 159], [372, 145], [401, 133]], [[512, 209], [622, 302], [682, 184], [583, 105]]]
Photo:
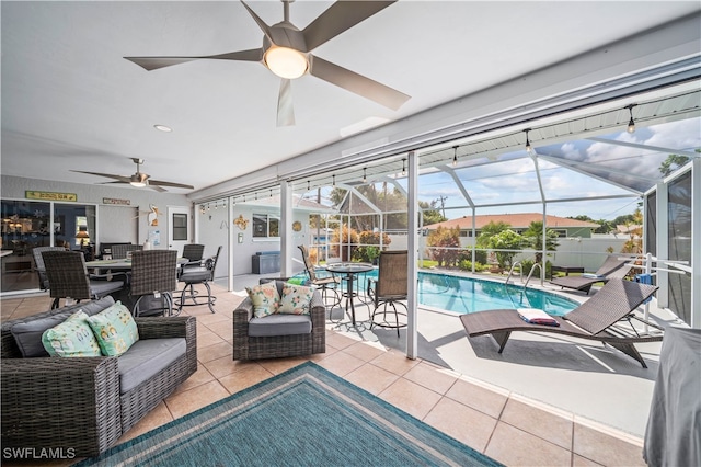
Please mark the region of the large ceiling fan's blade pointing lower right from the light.
[[379, 83], [355, 71], [340, 67], [317, 56], [310, 56], [309, 72], [347, 91], [367, 98], [393, 111], [411, 99], [410, 95]]

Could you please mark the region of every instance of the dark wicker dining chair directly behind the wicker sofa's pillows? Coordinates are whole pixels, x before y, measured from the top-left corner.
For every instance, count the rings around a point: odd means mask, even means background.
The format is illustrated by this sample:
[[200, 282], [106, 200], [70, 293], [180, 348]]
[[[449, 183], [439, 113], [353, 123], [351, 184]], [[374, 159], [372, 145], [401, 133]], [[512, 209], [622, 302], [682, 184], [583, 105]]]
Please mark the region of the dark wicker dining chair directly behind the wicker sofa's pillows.
[[77, 301], [99, 299], [124, 289], [126, 274], [113, 273], [111, 281], [99, 281], [105, 276], [89, 274], [85, 258], [80, 251], [44, 251], [49, 295], [54, 298], [51, 309], [58, 308], [61, 298]]

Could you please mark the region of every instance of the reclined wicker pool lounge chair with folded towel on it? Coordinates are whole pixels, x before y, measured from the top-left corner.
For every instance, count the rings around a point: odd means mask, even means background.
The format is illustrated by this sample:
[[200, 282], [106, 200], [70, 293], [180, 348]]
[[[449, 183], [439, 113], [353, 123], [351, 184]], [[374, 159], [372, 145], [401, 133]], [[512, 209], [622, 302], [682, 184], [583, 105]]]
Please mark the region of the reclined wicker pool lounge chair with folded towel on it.
[[[499, 345], [499, 353], [514, 331], [552, 332], [607, 343], [647, 368], [634, 344], [662, 341], [663, 335], [637, 335], [620, 327], [613, 328], [613, 324], [633, 312], [656, 289], [653, 285], [611, 278], [591, 298], [564, 317], [553, 317], [558, 327], [528, 323], [515, 309], [472, 312], [462, 315], [460, 321], [470, 338], [492, 334]], [[538, 343], [533, 342], [533, 345]]]

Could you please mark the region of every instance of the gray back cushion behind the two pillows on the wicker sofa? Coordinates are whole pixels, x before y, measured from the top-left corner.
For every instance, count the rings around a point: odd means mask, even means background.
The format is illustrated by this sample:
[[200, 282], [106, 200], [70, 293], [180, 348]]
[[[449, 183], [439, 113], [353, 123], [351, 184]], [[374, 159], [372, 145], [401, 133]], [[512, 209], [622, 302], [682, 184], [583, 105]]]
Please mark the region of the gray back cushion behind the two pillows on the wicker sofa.
[[10, 332], [12, 332], [14, 341], [16, 342], [18, 348], [20, 348], [20, 352], [22, 352], [23, 357], [49, 356], [42, 343], [42, 334], [44, 334], [44, 331], [60, 324], [66, 320], [66, 318], [78, 312], [78, 310], [83, 310], [88, 316], [92, 316], [108, 308], [113, 304], [114, 300], [112, 297], [105, 297], [101, 300], [70, 305], [68, 307], [54, 310], [54, 314], [50, 316], [44, 316], [36, 319], [27, 317], [24, 322], [19, 322], [12, 326]]

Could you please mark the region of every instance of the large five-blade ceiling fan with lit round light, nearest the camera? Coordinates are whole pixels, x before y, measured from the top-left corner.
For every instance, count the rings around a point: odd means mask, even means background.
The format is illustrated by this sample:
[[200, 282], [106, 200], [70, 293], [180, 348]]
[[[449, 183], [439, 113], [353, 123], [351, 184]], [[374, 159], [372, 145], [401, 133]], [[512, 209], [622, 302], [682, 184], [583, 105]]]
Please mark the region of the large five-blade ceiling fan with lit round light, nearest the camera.
[[148, 71], [200, 59], [257, 61], [281, 78], [277, 101], [277, 126], [295, 125], [290, 80], [307, 73], [394, 111], [410, 99], [409, 95], [400, 91], [311, 54], [314, 48], [378, 13], [397, 0], [336, 1], [301, 31], [289, 21], [289, 3], [294, 0], [281, 1], [284, 20], [268, 26], [241, 0], [243, 7], [263, 31], [264, 37], [261, 48], [200, 57], [124, 58]]

